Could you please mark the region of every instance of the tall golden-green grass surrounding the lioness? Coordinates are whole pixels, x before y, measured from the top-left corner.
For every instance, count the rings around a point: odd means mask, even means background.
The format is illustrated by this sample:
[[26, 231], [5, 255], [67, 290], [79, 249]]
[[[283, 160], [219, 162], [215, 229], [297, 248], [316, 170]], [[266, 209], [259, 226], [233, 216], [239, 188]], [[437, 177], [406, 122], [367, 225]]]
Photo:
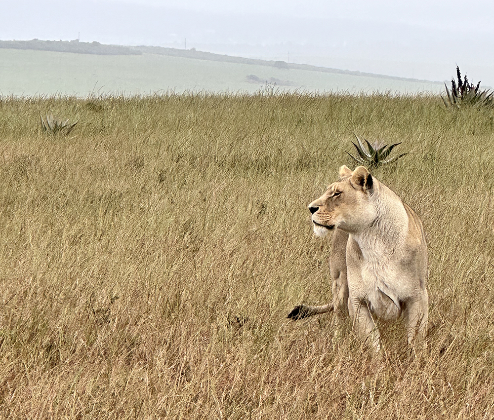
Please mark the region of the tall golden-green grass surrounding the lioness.
[[[41, 132], [40, 114], [79, 121]], [[491, 419], [494, 117], [438, 97], [0, 100], [0, 417]], [[306, 205], [353, 133], [421, 216], [428, 351], [376, 366], [331, 316]]]

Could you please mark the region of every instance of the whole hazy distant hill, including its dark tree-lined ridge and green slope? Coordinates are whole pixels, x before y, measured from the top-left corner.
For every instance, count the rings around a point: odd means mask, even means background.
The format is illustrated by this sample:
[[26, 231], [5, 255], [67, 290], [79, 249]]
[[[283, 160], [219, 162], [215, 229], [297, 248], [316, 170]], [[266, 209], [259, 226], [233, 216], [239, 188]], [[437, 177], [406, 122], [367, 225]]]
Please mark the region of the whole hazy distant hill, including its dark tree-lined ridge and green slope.
[[0, 95], [163, 91], [438, 93], [444, 84], [191, 49], [99, 42], [0, 40]]

